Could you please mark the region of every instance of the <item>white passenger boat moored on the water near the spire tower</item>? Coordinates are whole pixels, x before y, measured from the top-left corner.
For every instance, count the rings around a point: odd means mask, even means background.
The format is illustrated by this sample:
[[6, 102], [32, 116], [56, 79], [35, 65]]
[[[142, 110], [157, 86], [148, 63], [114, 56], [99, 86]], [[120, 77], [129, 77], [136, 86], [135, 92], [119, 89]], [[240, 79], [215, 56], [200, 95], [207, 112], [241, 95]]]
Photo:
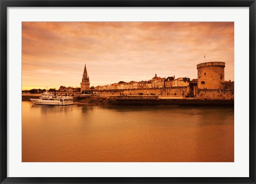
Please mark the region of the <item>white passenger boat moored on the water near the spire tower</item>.
[[67, 106], [67, 105], [74, 104], [72, 97], [56, 96], [47, 91], [45, 93], [42, 93], [39, 99], [30, 99], [30, 100], [37, 105]]

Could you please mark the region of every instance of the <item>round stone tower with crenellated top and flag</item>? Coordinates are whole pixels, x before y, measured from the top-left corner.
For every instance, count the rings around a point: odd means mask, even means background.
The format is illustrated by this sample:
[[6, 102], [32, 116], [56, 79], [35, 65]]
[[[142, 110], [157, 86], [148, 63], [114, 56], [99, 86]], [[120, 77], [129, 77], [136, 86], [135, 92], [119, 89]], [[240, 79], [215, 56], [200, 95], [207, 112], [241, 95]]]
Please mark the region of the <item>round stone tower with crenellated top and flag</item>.
[[198, 90], [223, 89], [225, 62], [204, 62], [196, 67]]

